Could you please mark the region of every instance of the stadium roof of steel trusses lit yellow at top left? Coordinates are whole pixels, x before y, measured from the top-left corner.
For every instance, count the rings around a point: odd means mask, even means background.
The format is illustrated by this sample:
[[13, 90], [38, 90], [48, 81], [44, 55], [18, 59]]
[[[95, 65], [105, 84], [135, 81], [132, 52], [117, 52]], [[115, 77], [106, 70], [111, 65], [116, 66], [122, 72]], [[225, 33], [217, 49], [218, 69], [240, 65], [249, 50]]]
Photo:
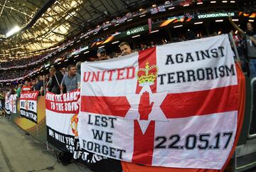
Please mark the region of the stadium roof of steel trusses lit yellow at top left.
[[152, 3], [149, 0], [0, 0], [0, 62], [40, 55], [81, 30]]

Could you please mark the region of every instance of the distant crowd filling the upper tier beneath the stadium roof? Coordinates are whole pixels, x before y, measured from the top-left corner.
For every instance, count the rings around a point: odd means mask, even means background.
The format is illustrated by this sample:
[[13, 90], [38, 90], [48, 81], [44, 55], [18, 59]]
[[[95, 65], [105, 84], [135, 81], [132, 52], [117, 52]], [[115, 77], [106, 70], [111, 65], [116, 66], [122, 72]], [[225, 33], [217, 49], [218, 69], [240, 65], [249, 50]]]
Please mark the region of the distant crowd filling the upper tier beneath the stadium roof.
[[[130, 18], [134, 18], [136, 16], [142, 15], [142, 13], [159, 13], [159, 12], [164, 12], [164, 8], [168, 8], [169, 6], [183, 6], [184, 4], [196, 4], [202, 1], [208, 1], [208, 0], [175, 0], [175, 1], [165, 1], [164, 4], [157, 4], [156, 6], [152, 6], [151, 8], [144, 8], [144, 9], [139, 9], [139, 11], [134, 11], [132, 13], [127, 13], [125, 16], [117, 17], [112, 19], [112, 21], [106, 21], [102, 23], [102, 25], [97, 25], [96, 28], [90, 29], [87, 31], [87, 33], [82, 33], [81, 37], [86, 37], [87, 35], [92, 35], [93, 33], [97, 33], [100, 30], [104, 30], [107, 27], [113, 26], [117, 23], [124, 23], [124, 21], [129, 20]], [[163, 8], [162, 8], [163, 7]], [[255, 11], [256, 9], [256, 4], [247, 4], [246, 6], [240, 6], [240, 11], [245, 11], [246, 13], [250, 13], [251, 11]], [[208, 9], [204, 11], [186, 11], [183, 13], [176, 14], [176, 16], [191, 16], [191, 15], [197, 15], [199, 13], [210, 13], [210, 12], [220, 12], [219, 9]], [[223, 10], [223, 12], [229, 11], [227, 9]], [[232, 9], [230, 9], [232, 11]], [[153, 20], [152, 23], [159, 22], [162, 20], [166, 20], [166, 18], [158, 18], [156, 20]], [[124, 30], [119, 30], [116, 33], [121, 33]], [[87, 45], [90, 45], [93, 42], [97, 42], [100, 40], [104, 40], [105, 38], [108, 38], [109, 36], [113, 34], [107, 34], [101, 38], [96, 38], [95, 40], [91, 40], [90, 42], [87, 43]], [[59, 45], [59, 47], [67, 47], [68, 45], [72, 45], [73, 42], [77, 41], [80, 37], [75, 37], [73, 40], [68, 40], [68, 43], [65, 42], [62, 45]], [[75, 48], [76, 49], [76, 48]], [[74, 50], [75, 50], [74, 49]], [[73, 50], [72, 50], [73, 51]], [[14, 68], [21, 68], [21, 67], [28, 67], [30, 65], [36, 65], [38, 62], [41, 62], [44, 58], [50, 57], [53, 55], [55, 51], [48, 51], [47, 53], [43, 53], [41, 55], [36, 55], [32, 57], [15, 57], [9, 59], [9, 56], [6, 57], [6, 62], [1, 62], [0, 69], [14, 69]], [[2, 79], [0, 79], [2, 80]]]

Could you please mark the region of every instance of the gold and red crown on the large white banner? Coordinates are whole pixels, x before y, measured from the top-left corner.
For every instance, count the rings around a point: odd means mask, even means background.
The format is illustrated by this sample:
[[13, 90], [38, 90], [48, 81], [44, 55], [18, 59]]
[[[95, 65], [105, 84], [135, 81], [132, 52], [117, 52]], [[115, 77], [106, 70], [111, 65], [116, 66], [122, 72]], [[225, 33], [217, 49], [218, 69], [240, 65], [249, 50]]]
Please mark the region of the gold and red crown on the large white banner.
[[155, 64], [149, 67], [149, 62], [146, 62], [145, 68], [139, 68], [139, 71], [137, 71], [139, 86], [153, 85], [156, 77], [157, 67]]

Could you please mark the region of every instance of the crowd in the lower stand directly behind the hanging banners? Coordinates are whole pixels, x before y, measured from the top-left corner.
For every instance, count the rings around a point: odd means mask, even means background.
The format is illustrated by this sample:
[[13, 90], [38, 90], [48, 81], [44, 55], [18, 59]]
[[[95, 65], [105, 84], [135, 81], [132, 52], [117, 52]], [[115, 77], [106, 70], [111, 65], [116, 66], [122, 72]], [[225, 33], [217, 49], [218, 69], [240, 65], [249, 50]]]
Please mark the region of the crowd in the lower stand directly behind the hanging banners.
[[[231, 19], [230, 22], [232, 23]], [[233, 23], [234, 24], [234, 23]], [[235, 25], [238, 28], [237, 25]], [[242, 30], [239, 30], [240, 32], [243, 32]], [[247, 52], [245, 52], [245, 47], [247, 45], [248, 40], [242, 38], [242, 33], [240, 35], [236, 35], [233, 31], [233, 38], [235, 40], [235, 44], [238, 47], [239, 56], [242, 62], [242, 68], [247, 71], [248, 73], [250, 71], [247, 70], [247, 65], [249, 60], [252, 61], [256, 57], [256, 54], [250, 54], [248, 57]], [[245, 35], [250, 35], [249, 40], [252, 40], [252, 45], [254, 47], [253, 53], [256, 52], [256, 33], [253, 30], [252, 24], [247, 23], [247, 30], [246, 32], [243, 32]], [[213, 33], [213, 35], [217, 35], [217, 33]], [[243, 36], [245, 36], [243, 35]], [[212, 35], [210, 35], [212, 36]], [[193, 33], [192, 30], [188, 30], [186, 35], [180, 35], [178, 38], [174, 38], [173, 40], [170, 40], [169, 42], [178, 42], [183, 40], [191, 40], [197, 38], [195, 33]], [[146, 43], [148, 42], [148, 43]], [[104, 48], [100, 48], [97, 50], [97, 53], [95, 57], [91, 57], [87, 59], [87, 61], [99, 61], [99, 60], [105, 60], [110, 59], [114, 57], [119, 57], [122, 55], [128, 55], [132, 52], [136, 52], [139, 50], [145, 50], [149, 47], [154, 47], [156, 45], [162, 45], [169, 43], [167, 40], [159, 39], [159, 40], [152, 40], [152, 41], [143, 41], [139, 44], [133, 45], [131, 49], [129, 43], [122, 42], [119, 45], [119, 52], [111, 52], [110, 54], [107, 54], [107, 50]], [[247, 45], [248, 46], [248, 45]], [[79, 88], [80, 85], [80, 64], [81, 62], [77, 62], [76, 65], [70, 64], [67, 68], [60, 68], [55, 69], [55, 67], [50, 67], [49, 73], [46, 75], [39, 75], [36, 79], [28, 79], [27, 81], [24, 81], [23, 84], [18, 84], [16, 86], [11, 86], [11, 89], [9, 88], [8, 91], [11, 93], [17, 93], [18, 95], [23, 91], [40, 91], [40, 95], [44, 95], [45, 91], [51, 91], [53, 93], [65, 93], [66, 91], [72, 91], [73, 89]], [[250, 69], [253, 67], [250, 66]], [[33, 69], [31, 69], [33, 70]], [[253, 69], [254, 70], [254, 69]], [[26, 74], [27, 71], [19, 72], [22, 74]], [[14, 71], [17, 73], [16, 71]], [[253, 76], [255, 76], [254, 71], [252, 71]], [[0, 76], [4, 77], [5, 75], [8, 75], [7, 73], [1, 73]], [[9, 74], [9, 76], [13, 76], [13, 74]], [[8, 77], [8, 76], [7, 76]], [[5, 76], [6, 78], [6, 76]], [[0, 87], [1, 88], [1, 87]], [[6, 87], [5, 87], [6, 88]], [[24, 90], [25, 88], [25, 90]], [[2, 91], [2, 90], [1, 90]], [[0, 96], [1, 97], [1, 96]]]

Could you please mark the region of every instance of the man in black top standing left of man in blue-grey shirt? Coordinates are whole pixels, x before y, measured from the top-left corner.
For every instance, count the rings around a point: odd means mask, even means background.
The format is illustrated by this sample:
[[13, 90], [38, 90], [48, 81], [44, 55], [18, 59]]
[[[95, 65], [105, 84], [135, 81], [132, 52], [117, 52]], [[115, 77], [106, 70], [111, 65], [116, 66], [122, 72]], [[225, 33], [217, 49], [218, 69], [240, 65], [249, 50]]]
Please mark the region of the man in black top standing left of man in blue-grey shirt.
[[60, 84], [61, 84], [61, 81], [63, 80], [63, 74], [61, 74], [60, 71], [57, 71], [55, 67], [51, 67], [50, 76], [51, 76], [51, 81], [48, 87], [48, 91], [55, 94], [60, 94]]

